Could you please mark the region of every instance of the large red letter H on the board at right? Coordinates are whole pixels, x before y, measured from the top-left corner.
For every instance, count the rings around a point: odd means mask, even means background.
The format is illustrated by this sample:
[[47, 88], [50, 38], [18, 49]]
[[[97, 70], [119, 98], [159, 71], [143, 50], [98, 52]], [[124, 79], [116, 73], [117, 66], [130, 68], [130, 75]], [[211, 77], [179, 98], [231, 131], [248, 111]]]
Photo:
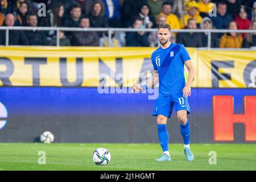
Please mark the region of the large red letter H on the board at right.
[[245, 114], [233, 114], [232, 96], [213, 97], [214, 141], [234, 141], [234, 123], [245, 125], [245, 140], [256, 141], [256, 96], [245, 97]]

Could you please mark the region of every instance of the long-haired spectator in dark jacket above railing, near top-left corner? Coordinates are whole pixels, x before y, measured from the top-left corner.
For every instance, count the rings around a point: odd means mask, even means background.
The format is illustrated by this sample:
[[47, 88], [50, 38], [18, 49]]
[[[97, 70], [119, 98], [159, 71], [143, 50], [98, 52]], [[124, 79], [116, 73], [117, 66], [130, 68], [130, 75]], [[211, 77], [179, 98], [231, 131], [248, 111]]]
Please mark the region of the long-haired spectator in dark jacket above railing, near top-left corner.
[[19, 9], [14, 11], [15, 15], [15, 26], [27, 26], [27, 13], [28, 13], [28, 4], [26, 2], [20, 3]]

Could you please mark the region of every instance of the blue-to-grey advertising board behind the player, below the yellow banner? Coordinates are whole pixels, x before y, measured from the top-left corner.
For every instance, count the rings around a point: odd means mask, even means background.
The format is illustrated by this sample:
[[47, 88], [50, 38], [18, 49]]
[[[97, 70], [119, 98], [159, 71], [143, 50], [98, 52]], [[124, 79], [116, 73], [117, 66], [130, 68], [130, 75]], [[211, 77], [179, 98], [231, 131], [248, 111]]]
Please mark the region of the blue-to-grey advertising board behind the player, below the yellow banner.
[[[7, 124], [0, 130], [1, 142], [34, 142], [47, 130], [55, 134], [56, 142], [158, 142], [156, 118], [151, 116], [155, 100], [148, 100], [152, 95], [149, 93], [99, 94], [97, 88], [23, 87], [1, 88], [0, 93], [8, 113]], [[254, 89], [193, 88], [189, 98], [192, 110], [188, 116], [191, 142], [218, 141], [214, 136], [214, 96], [231, 96], [232, 104], [225, 108], [233, 107], [234, 114], [244, 113], [245, 97], [254, 96], [254, 101], [256, 98]], [[221, 115], [227, 114], [218, 107]], [[255, 109], [256, 102], [251, 107]], [[222, 137], [222, 141], [244, 142], [249, 137], [245, 134], [250, 123], [255, 134], [255, 118], [254, 113], [246, 125], [229, 121], [234, 126], [234, 138]], [[182, 142], [175, 113], [169, 119], [168, 129], [171, 142]]]

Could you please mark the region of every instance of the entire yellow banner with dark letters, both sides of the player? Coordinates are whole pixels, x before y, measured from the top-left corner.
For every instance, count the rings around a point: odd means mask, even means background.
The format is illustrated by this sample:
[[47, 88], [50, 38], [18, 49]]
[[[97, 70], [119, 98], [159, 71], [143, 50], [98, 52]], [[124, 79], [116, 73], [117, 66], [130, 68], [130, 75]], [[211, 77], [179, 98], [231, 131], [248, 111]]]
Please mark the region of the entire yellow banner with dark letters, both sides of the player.
[[[0, 86], [132, 86], [152, 76], [155, 49], [0, 47]], [[187, 49], [193, 87], [255, 88], [256, 51]]]

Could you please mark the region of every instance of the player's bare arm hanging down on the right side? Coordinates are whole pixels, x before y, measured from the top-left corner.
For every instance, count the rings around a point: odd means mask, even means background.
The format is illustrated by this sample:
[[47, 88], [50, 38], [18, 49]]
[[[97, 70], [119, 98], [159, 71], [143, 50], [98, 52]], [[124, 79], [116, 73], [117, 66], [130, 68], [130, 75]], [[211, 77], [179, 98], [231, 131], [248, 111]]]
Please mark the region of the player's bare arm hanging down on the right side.
[[186, 86], [183, 88], [183, 97], [188, 97], [191, 95], [191, 83], [195, 77], [195, 71], [191, 60], [185, 61], [185, 67], [188, 69], [188, 80]]

